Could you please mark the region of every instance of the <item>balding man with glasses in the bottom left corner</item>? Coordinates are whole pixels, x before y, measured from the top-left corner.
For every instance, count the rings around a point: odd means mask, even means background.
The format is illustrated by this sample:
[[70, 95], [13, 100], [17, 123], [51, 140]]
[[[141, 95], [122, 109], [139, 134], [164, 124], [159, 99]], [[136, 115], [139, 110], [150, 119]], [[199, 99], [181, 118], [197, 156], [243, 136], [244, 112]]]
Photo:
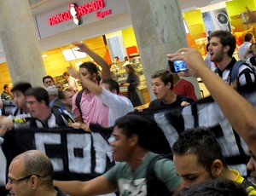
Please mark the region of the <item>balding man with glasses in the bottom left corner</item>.
[[26, 151], [12, 160], [5, 187], [10, 195], [66, 195], [53, 186], [53, 165], [38, 150]]

